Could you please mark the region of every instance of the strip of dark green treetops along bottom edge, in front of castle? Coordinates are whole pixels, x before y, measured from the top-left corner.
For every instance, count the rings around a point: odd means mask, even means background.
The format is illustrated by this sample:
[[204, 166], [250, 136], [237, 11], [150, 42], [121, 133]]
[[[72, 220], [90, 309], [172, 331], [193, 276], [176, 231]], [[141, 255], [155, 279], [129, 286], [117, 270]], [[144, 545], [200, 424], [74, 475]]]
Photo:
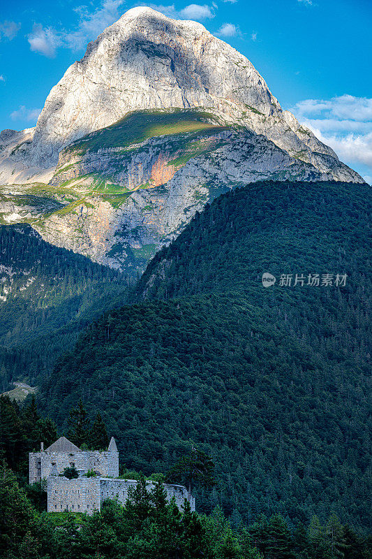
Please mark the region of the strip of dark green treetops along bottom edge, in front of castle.
[[0, 465], [0, 556], [3, 559], [369, 559], [371, 539], [335, 515], [325, 525], [290, 530], [281, 515], [233, 529], [213, 514], [179, 511], [161, 484], [144, 478], [124, 507], [107, 500], [92, 516], [36, 511], [11, 470]]

